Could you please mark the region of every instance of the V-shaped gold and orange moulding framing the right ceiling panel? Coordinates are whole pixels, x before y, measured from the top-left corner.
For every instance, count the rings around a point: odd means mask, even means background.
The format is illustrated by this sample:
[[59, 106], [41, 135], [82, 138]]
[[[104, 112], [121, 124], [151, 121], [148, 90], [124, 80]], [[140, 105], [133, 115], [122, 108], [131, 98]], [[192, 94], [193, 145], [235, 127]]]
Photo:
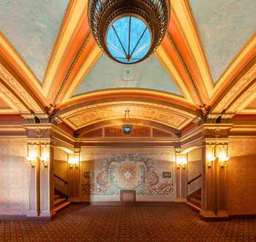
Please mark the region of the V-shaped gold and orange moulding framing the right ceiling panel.
[[[214, 84], [211, 77], [211, 71], [208, 67], [206, 53], [200, 40], [200, 34], [195, 19], [193, 18], [191, 7], [189, 6], [189, 1], [173, 0], [171, 1], [171, 5], [174, 18], [177, 18], [178, 26], [181, 28], [187, 48], [189, 48], [189, 53], [192, 53], [192, 60], [194, 60], [193, 65], [200, 74], [199, 80], [206, 89], [208, 98], [214, 100], [216, 99], [215, 95], [218, 95], [228, 83], [232, 82], [233, 77], [236, 76], [236, 74], [243, 69], [248, 61], [255, 55], [256, 34], [249, 39], [249, 42], [247, 42], [240, 53], [238, 53], [238, 56], [236, 56], [233, 62], [227, 67], [222, 77], [220, 77], [217, 83]], [[211, 105], [211, 102], [212, 101], [210, 100], [208, 105]]]

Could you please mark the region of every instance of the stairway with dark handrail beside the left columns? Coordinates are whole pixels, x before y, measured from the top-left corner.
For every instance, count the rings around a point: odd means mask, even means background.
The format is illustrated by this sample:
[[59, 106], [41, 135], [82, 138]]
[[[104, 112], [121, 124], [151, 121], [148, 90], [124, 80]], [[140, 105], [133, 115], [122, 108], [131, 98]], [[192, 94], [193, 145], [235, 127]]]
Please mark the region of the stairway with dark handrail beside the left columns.
[[67, 181], [54, 175], [54, 211], [59, 212], [70, 204], [67, 197]]

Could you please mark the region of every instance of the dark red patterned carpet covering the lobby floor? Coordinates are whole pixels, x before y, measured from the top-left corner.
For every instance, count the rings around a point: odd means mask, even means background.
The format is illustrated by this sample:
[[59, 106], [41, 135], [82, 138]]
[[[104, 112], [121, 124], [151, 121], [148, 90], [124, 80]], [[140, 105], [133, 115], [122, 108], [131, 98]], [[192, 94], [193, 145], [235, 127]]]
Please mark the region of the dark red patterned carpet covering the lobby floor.
[[0, 222], [0, 241], [256, 241], [256, 219], [203, 222], [186, 205], [72, 205], [52, 222]]

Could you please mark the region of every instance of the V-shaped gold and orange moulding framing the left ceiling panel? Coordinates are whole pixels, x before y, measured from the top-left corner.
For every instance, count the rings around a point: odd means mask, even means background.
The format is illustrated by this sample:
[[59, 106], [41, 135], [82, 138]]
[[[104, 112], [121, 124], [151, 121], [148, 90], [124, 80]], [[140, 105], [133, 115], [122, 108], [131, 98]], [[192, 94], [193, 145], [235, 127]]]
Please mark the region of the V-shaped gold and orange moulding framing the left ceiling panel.
[[50, 56], [43, 83], [39, 83], [37, 77], [35, 77], [10, 42], [0, 33], [1, 56], [12, 65], [12, 68], [20, 75], [20, 79], [24, 80], [26, 85], [34, 91], [34, 94], [37, 94], [39, 99], [42, 99], [46, 106], [50, 105], [48, 97], [54, 97], [56, 86], [59, 86], [67, 69], [69, 69], [73, 56], [80, 48], [80, 42], [89, 33], [86, 13], [87, 1], [70, 1], [59, 36]]

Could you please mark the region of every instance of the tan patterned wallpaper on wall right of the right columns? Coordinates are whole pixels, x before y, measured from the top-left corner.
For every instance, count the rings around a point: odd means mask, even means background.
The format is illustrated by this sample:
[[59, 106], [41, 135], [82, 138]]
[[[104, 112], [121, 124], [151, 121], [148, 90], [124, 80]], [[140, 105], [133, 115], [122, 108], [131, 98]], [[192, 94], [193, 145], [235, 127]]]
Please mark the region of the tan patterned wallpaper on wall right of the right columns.
[[256, 139], [230, 139], [227, 207], [230, 214], [256, 213]]

